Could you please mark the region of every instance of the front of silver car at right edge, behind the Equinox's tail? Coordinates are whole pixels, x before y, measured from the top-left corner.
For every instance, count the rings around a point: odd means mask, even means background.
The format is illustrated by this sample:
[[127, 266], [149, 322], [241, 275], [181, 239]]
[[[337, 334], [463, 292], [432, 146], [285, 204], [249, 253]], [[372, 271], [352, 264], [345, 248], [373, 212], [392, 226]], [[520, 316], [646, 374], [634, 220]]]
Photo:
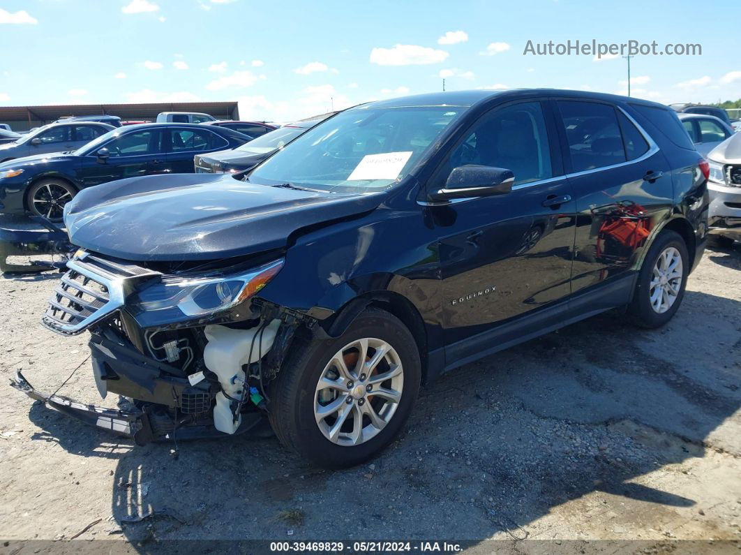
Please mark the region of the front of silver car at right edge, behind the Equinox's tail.
[[711, 238], [723, 247], [741, 239], [741, 133], [715, 147], [708, 154], [710, 178]]

